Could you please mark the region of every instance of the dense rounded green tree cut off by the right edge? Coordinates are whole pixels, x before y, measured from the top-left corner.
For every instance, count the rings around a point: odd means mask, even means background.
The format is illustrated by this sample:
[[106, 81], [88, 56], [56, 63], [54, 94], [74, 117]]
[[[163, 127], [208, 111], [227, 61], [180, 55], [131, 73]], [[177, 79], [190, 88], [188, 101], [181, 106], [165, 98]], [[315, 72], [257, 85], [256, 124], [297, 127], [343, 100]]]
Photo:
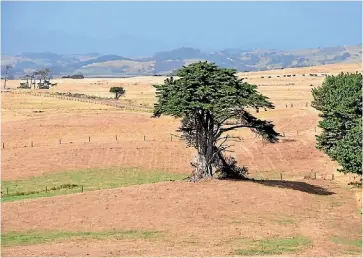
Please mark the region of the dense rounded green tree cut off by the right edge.
[[340, 171], [362, 174], [362, 74], [327, 76], [312, 94], [322, 117], [317, 148], [338, 161]]

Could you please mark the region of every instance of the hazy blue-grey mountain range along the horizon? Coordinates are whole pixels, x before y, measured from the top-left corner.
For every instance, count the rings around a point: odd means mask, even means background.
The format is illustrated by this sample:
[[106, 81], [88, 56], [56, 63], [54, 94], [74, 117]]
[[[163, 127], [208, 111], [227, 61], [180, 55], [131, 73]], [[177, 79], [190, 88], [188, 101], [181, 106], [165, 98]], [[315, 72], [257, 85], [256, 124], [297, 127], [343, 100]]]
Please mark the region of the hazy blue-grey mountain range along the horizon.
[[6, 65], [11, 65], [13, 68], [9, 70], [9, 75], [14, 78], [45, 68], [52, 70], [53, 77], [75, 73], [82, 73], [85, 77], [165, 75], [183, 65], [202, 60], [242, 72], [335, 63], [361, 63], [362, 45], [294, 51], [225, 49], [218, 52], [203, 52], [184, 47], [143, 58], [97, 53], [61, 55], [49, 52], [26, 52], [2, 56], [1, 72], [4, 73]]

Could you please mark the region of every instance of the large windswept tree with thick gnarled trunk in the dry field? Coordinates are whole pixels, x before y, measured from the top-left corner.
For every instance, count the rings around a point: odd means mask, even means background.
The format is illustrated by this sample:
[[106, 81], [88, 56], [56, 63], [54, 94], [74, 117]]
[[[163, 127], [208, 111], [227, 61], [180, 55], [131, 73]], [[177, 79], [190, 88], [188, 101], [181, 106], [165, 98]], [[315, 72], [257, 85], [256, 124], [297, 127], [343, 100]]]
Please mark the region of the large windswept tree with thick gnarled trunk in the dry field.
[[249, 109], [271, 109], [273, 104], [256, 90], [256, 85], [243, 82], [236, 70], [219, 68], [213, 63], [198, 62], [178, 70], [179, 78], [170, 77], [156, 88], [154, 117], [171, 115], [182, 118], [179, 131], [188, 147], [197, 150], [192, 162], [192, 181], [221, 172], [227, 177], [245, 177], [246, 168], [223, 153], [236, 140], [226, 134], [238, 128], [249, 128], [269, 142], [279, 134], [269, 121], [256, 118]]

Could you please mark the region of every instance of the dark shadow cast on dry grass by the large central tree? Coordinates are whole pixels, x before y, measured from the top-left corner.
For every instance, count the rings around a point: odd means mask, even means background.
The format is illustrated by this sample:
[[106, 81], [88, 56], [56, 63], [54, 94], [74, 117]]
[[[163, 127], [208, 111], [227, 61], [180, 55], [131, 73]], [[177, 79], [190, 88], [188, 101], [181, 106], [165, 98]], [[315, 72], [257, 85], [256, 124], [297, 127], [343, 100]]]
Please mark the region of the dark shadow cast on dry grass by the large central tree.
[[297, 182], [297, 181], [285, 181], [285, 180], [257, 180], [257, 179], [224, 179], [224, 180], [233, 180], [233, 181], [250, 181], [253, 183], [261, 184], [264, 186], [270, 187], [278, 187], [284, 189], [291, 189], [295, 191], [305, 192], [309, 194], [315, 195], [333, 195], [334, 192], [330, 192], [326, 188], [308, 184], [305, 182]]

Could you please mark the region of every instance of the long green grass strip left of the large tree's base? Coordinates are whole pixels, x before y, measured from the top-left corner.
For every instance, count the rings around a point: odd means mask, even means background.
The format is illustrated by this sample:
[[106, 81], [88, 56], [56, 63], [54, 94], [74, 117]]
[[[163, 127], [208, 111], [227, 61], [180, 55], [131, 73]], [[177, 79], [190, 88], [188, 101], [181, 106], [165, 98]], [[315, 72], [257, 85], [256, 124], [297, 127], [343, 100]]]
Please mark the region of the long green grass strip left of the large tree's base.
[[27, 180], [2, 181], [2, 201], [79, 193], [131, 185], [181, 180], [184, 174], [138, 168], [85, 169], [52, 173]]

